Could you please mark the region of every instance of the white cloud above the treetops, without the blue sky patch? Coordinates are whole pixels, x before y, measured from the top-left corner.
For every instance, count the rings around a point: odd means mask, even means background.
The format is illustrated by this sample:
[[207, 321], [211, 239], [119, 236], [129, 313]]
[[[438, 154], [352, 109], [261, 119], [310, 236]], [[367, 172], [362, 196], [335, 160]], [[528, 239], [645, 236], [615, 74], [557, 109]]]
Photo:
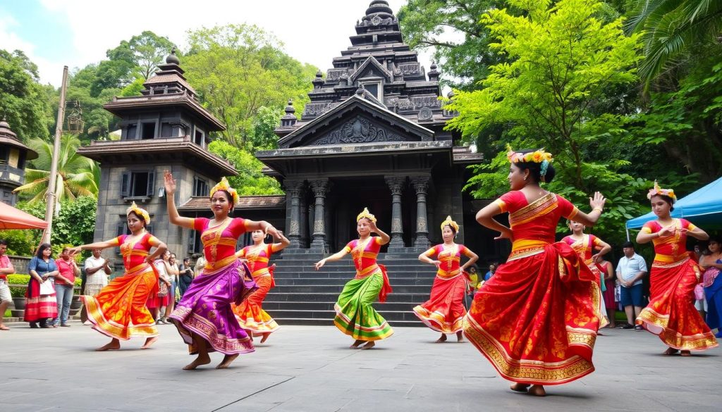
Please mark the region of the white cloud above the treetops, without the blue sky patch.
[[[67, 61], [54, 63], [61, 68], [64, 64], [73, 68], [100, 61], [105, 58], [105, 51], [143, 30], [165, 35], [185, 48], [188, 30], [245, 22], [274, 32], [285, 44], [287, 53], [323, 71], [351, 44], [349, 36], [355, 34], [355, 22], [364, 16], [370, 4], [370, 0], [126, 0], [109, 9], [104, 1], [97, 0], [41, 2], [58, 19], [66, 21], [73, 33], [73, 38], [66, 41], [74, 45], [74, 53], [66, 57]], [[389, 4], [396, 13], [405, 1], [390, 0]], [[429, 53], [419, 55], [428, 71]], [[41, 76], [52, 78], [45, 73], [45, 67]], [[59, 83], [58, 75], [53, 84]]]

